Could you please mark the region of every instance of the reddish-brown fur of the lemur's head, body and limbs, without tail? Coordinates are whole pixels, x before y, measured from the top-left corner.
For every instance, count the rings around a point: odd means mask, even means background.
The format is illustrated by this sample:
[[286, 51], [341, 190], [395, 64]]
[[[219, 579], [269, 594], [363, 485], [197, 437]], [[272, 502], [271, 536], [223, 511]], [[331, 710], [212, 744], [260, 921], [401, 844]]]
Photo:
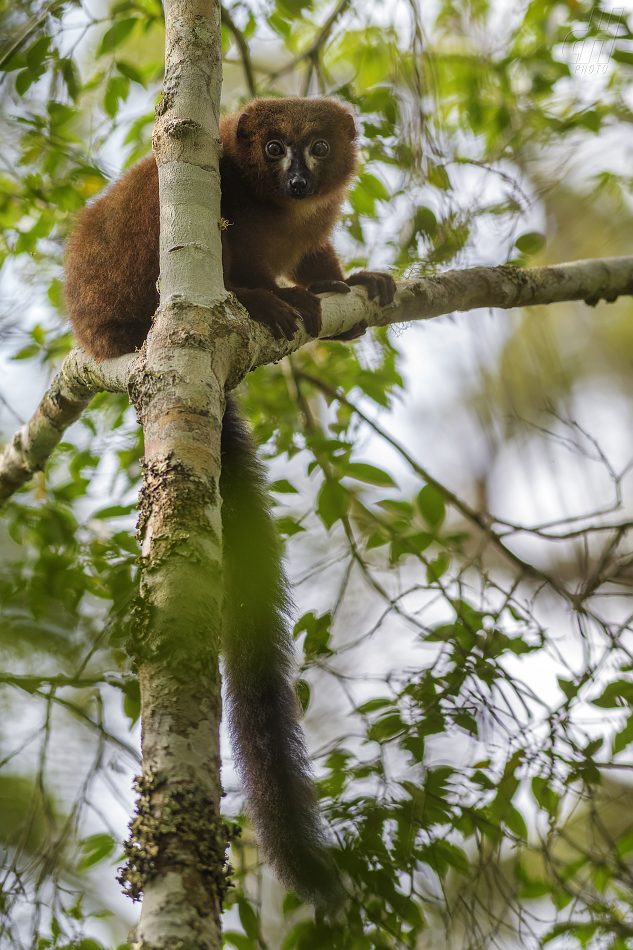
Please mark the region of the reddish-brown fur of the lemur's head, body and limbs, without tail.
[[[393, 297], [389, 275], [363, 272], [344, 282], [330, 243], [356, 166], [356, 128], [345, 106], [326, 98], [256, 99], [222, 117], [220, 136], [222, 216], [230, 222], [222, 234], [225, 284], [253, 319], [290, 339], [300, 316], [316, 336], [315, 294], [362, 283], [383, 304]], [[329, 143], [328, 155], [312, 160], [314, 193], [289, 196], [289, 173], [264, 151], [271, 139], [287, 144], [288, 154], [316, 140]], [[158, 172], [149, 156], [85, 209], [68, 242], [68, 311], [77, 340], [98, 359], [132, 352], [147, 336], [158, 305], [158, 241]], [[298, 286], [279, 287], [279, 277]]]

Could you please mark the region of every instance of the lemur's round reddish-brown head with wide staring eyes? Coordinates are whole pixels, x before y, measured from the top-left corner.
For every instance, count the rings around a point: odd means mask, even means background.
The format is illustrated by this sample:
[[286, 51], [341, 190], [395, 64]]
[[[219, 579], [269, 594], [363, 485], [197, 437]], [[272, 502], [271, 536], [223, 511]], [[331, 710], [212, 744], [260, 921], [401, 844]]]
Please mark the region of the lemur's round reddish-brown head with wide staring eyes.
[[356, 168], [356, 124], [336, 99], [255, 99], [235, 148], [262, 198], [278, 204], [341, 192]]

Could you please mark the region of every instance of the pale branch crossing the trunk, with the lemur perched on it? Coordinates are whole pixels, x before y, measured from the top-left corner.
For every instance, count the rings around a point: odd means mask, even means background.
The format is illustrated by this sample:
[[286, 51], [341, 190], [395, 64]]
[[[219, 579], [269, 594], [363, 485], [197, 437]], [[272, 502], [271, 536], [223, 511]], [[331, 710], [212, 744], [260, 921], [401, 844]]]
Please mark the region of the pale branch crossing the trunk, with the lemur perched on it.
[[[377, 301], [369, 301], [360, 287], [353, 287], [348, 294], [324, 294], [321, 337], [338, 336], [358, 326], [429, 320], [482, 307], [508, 310], [565, 300], [584, 300], [595, 306], [600, 300], [612, 302], [631, 294], [633, 257], [575, 261], [552, 267], [473, 267], [401, 281], [388, 307], [381, 308]], [[275, 340], [267, 329], [246, 321], [245, 317], [229, 313], [227, 319], [234, 324], [236, 342], [236, 363], [228, 377], [229, 389], [257, 366], [278, 362], [312, 342], [303, 326], [292, 340]], [[0, 503], [43, 470], [64, 431], [79, 419], [95, 393], [127, 392], [137, 359], [136, 353], [130, 353], [97, 363], [78, 348], [69, 353], [32, 419], [0, 453]]]

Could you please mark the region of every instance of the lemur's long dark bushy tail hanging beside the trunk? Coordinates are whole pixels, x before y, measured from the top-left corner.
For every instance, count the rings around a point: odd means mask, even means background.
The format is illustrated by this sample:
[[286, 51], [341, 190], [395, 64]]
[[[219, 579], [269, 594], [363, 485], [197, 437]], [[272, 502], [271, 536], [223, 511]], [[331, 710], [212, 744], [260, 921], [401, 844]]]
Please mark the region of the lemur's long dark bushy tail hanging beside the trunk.
[[289, 596], [261, 463], [235, 403], [222, 428], [223, 650], [229, 728], [258, 841], [300, 897], [338, 893], [292, 685]]

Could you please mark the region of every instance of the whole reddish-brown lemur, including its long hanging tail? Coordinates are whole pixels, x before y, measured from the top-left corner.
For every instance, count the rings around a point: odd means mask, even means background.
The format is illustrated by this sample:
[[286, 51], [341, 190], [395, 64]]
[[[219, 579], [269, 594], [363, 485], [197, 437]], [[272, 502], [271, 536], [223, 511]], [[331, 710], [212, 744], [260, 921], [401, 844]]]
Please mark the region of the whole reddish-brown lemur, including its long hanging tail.
[[[330, 236], [356, 168], [352, 112], [330, 98], [255, 99], [222, 116], [226, 288], [277, 337], [298, 319], [321, 329], [326, 291], [362, 284], [381, 305], [389, 274], [345, 279]], [[66, 251], [65, 297], [79, 344], [98, 360], [140, 348], [158, 306], [158, 171], [140, 161], [84, 209]], [[280, 287], [285, 277], [292, 287]], [[229, 728], [258, 840], [282, 882], [328, 902], [338, 885], [324, 847], [292, 682], [290, 600], [256, 447], [227, 397], [221, 442]]]

